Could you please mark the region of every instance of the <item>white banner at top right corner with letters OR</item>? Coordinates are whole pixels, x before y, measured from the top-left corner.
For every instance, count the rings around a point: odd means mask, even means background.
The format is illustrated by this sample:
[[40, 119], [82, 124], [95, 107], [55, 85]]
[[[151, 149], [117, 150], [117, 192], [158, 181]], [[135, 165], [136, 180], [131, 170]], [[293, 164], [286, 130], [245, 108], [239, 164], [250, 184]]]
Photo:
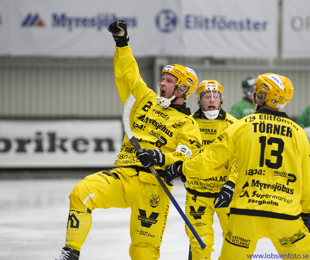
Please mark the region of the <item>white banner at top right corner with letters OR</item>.
[[283, 58], [310, 58], [310, 1], [283, 0]]

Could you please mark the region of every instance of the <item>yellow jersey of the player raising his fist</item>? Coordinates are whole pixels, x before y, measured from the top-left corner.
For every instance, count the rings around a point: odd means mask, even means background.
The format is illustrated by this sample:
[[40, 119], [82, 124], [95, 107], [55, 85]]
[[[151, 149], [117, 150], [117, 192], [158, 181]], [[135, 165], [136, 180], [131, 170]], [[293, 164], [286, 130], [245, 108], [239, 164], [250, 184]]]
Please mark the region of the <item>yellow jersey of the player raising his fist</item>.
[[[142, 148], [161, 149], [165, 154], [165, 169], [177, 160], [189, 160], [199, 153], [201, 137], [199, 127], [186, 105], [162, 108], [153, 90], [149, 89], [139, 75], [139, 68], [129, 46], [116, 47], [114, 73], [117, 91], [125, 104], [133, 94], [136, 102], [132, 108], [130, 123], [135, 138]], [[114, 162], [117, 166], [138, 166], [135, 148], [126, 135]]]

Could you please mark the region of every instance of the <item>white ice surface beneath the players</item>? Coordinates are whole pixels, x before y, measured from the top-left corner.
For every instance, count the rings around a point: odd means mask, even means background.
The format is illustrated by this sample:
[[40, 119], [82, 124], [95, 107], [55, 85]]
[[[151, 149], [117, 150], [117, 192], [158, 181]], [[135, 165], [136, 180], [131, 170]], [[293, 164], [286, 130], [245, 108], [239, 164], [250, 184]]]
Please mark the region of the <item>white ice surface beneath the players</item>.
[[[0, 259], [51, 260], [60, 256], [64, 246], [69, 210], [69, 194], [78, 179], [0, 180]], [[175, 181], [172, 194], [185, 208], [186, 191]], [[130, 209], [96, 209], [92, 227], [82, 246], [81, 260], [130, 259]], [[218, 218], [214, 217], [217, 260], [223, 238]], [[184, 221], [170, 203], [160, 260], [187, 260], [189, 242]], [[255, 253], [277, 254], [269, 239], [259, 240]]]

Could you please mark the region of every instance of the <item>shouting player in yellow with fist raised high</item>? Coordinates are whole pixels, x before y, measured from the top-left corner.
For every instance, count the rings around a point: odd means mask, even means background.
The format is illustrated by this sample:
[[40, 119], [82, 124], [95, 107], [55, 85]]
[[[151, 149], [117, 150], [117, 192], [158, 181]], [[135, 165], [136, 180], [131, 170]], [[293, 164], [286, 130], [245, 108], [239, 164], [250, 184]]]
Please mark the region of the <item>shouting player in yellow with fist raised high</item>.
[[[117, 91], [123, 104], [129, 95], [135, 96], [130, 118], [132, 132], [141, 147], [146, 149], [136, 156], [134, 147], [125, 136], [114, 162], [118, 168], [86, 176], [78, 182], [69, 195], [65, 247], [55, 260], [77, 260], [91, 228], [92, 211], [111, 207], [131, 208], [131, 258], [158, 259], [170, 199], [148, 167], [163, 170], [176, 160], [189, 160], [199, 153], [201, 147], [198, 125], [184, 103], [184, 99], [197, 88], [196, 73], [181, 65], [166, 66], [162, 71], [160, 96], [157, 96], [139, 75], [127, 43], [126, 23], [118, 20], [111, 23], [108, 30], [116, 41], [114, 73]], [[117, 252], [115, 254], [117, 258]]]

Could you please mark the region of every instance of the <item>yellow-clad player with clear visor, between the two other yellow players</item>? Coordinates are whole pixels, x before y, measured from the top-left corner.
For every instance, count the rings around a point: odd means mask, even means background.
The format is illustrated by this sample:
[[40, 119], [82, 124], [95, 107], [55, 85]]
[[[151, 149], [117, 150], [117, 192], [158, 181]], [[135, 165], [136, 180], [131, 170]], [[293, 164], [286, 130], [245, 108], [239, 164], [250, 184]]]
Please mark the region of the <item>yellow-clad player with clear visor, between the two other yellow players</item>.
[[[224, 102], [224, 88], [216, 80], [203, 80], [196, 90], [199, 109], [193, 114], [198, 123], [202, 139], [201, 152], [233, 122], [238, 121], [226, 113], [221, 105]], [[230, 158], [223, 170], [214, 177], [187, 177], [182, 176], [186, 188], [185, 214], [195, 227], [198, 235], [203, 238], [206, 248], [201, 250], [197, 239], [185, 225], [186, 233], [190, 241], [189, 259], [209, 259], [214, 252], [214, 232], [212, 228], [213, 216], [216, 214], [226, 233], [229, 203], [232, 200], [233, 188], [237, 179], [236, 156]], [[223, 188], [224, 186], [224, 188]], [[218, 199], [217, 199], [218, 198]], [[214, 202], [217, 202], [214, 205]]]

